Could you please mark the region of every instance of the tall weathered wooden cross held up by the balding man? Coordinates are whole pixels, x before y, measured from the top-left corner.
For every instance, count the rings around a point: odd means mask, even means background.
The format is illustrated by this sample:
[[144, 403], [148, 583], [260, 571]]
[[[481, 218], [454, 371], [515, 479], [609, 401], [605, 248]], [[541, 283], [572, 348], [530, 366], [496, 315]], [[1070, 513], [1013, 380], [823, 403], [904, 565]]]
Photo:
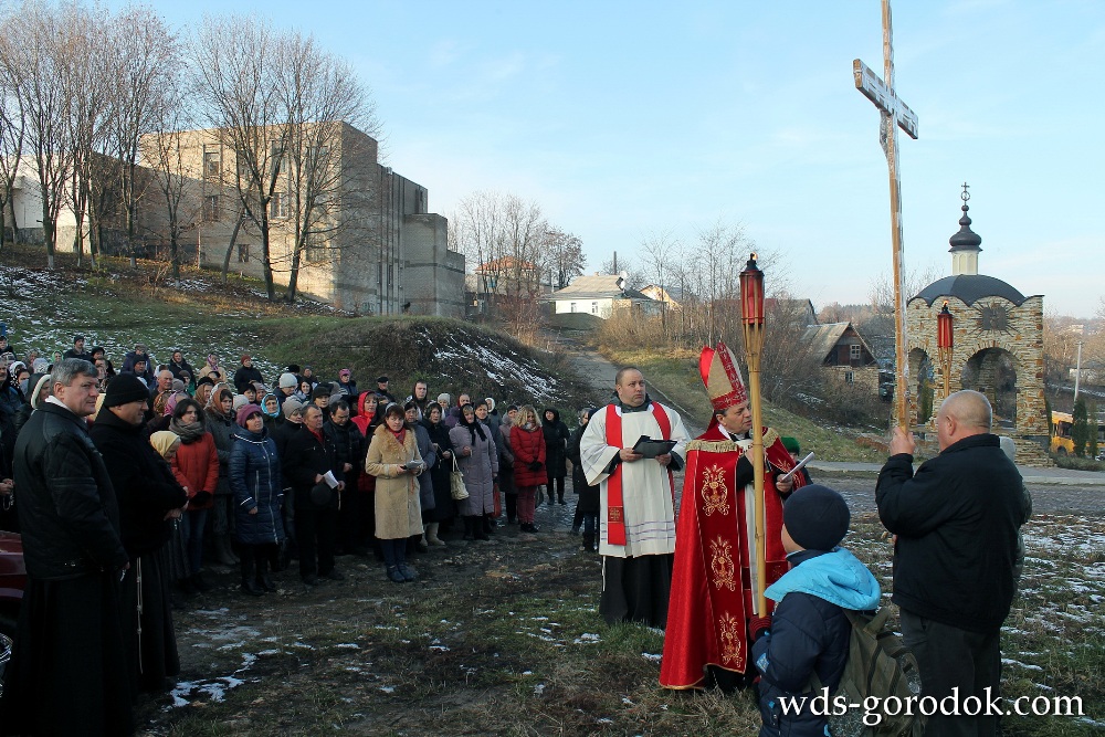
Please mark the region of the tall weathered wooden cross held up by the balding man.
[[859, 59], [852, 62], [855, 88], [875, 104], [882, 113], [880, 140], [886, 154], [891, 175], [891, 235], [894, 242], [894, 370], [897, 382], [894, 399], [897, 424], [908, 431], [909, 414], [906, 392], [909, 364], [906, 358], [905, 294], [902, 291], [902, 272], [905, 269], [905, 243], [902, 238], [902, 177], [898, 173], [898, 150], [895, 130], [902, 128], [911, 138], [917, 138], [917, 116], [894, 93], [894, 43], [891, 28], [891, 0], [883, 0], [883, 78]]

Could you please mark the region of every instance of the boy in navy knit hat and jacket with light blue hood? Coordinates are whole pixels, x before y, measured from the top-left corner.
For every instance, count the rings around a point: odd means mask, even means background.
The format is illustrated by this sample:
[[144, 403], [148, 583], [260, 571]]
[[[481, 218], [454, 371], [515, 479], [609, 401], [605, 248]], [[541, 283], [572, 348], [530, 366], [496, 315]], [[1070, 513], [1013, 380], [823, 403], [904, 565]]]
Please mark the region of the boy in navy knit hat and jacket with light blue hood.
[[[878, 607], [878, 581], [848, 550], [838, 547], [851, 515], [844, 498], [814, 484], [796, 491], [782, 509], [782, 546], [790, 570], [765, 594], [775, 615], [754, 617], [748, 629], [753, 662], [760, 673], [760, 737], [823, 737], [825, 714], [815, 714], [810, 684], [817, 673], [831, 694], [848, 660], [851, 624], [845, 609]], [[782, 702], [793, 706], [783, 709]], [[823, 710], [828, 704], [819, 699]]]

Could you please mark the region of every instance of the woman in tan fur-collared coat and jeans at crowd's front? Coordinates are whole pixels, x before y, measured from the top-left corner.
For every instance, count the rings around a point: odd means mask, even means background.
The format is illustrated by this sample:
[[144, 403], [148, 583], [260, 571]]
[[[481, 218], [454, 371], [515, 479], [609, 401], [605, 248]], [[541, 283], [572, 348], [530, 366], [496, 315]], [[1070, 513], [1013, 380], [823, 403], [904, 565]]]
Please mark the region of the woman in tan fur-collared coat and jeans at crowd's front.
[[422, 534], [419, 476], [425, 462], [403, 408], [391, 402], [383, 423], [372, 433], [365, 471], [376, 476], [376, 537], [383, 548], [388, 578], [396, 583], [418, 578], [407, 565], [407, 538]]

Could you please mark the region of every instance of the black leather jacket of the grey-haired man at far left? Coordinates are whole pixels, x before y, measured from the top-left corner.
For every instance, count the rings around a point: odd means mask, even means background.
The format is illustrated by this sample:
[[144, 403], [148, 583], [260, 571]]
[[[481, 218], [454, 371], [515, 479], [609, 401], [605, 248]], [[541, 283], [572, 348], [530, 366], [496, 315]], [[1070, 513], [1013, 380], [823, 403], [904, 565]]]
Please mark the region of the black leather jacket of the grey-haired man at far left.
[[23, 425], [14, 466], [29, 576], [73, 578], [128, 562], [115, 488], [83, 418], [44, 403]]

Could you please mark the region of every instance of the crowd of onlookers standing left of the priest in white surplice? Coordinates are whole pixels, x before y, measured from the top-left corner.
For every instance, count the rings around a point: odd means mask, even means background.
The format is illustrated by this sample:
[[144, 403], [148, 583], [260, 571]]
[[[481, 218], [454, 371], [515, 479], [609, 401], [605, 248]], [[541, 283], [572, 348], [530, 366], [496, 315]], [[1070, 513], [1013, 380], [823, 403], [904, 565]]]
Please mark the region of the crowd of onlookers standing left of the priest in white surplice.
[[[340, 581], [341, 556], [375, 556], [404, 583], [419, 576], [414, 552], [504, 525], [537, 539], [535, 506], [567, 504], [578, 432], [555, 408], [431, 398], [425, 381], [399, 399], [389, 377], [360, 390], [349, 368], [326, 380], [290, 365], [270, 385], [250, 355], [227, 367], [211, 354], [196, 370], [181, 350], [159, 362], [136, 344], [116, 369], [81, 335], [52, 359], [0, 340], [0, 529], [22, 534], [29, 578], [0, 709], [11, 734], [74, 726], [73, 709], [36, 708], [33, 723], [12, 710], [44, 664], [74, 678], [125, 672], [128, 687], [81, 689], [107, 734], [123, 734], [130, 699], [179, 673], [171, 610], [211, 588], [212, 566], [235, 567], [251, 597], [276, 591], [284, 569], [306, 587]], [[594, 550], [598, 489], [575, 491], [573, 531]], [[62, 645], [82, 636], [102, 646], [66, 662]]]

